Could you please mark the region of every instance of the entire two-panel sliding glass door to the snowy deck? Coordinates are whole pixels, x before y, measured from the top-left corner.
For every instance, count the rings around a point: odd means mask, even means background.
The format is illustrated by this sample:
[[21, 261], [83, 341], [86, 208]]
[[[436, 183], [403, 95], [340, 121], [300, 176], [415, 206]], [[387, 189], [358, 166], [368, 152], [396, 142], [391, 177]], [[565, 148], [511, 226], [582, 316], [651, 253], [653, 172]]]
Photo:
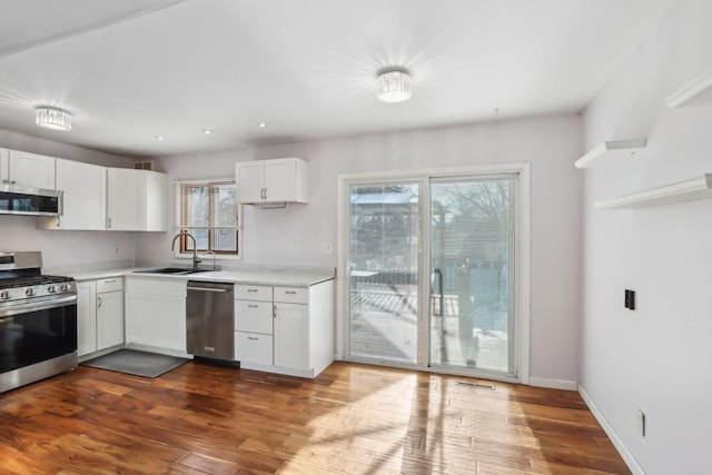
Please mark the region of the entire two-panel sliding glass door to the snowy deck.
[[347, 357], [517, 377], [518, 175], [354, 179], [343, 189]]

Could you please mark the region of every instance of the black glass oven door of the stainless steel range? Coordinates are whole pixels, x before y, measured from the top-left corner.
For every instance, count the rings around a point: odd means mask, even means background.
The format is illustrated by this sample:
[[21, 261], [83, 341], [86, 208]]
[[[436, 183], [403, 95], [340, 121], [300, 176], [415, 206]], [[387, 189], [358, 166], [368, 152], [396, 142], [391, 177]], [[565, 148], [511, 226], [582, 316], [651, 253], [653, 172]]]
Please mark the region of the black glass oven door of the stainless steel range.
[[0, 375], [76, 354], [77, 295], [0, 308]]

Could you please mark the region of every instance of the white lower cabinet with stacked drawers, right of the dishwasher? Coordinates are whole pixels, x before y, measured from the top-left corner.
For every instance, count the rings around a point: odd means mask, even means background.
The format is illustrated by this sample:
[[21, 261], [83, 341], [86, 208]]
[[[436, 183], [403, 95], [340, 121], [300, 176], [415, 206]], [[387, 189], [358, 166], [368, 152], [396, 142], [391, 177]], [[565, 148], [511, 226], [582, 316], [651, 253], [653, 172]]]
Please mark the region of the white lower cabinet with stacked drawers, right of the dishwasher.
[[334, 360], [334, 280], [310, 287], [237, 285], [240, 367], [315, 377]]

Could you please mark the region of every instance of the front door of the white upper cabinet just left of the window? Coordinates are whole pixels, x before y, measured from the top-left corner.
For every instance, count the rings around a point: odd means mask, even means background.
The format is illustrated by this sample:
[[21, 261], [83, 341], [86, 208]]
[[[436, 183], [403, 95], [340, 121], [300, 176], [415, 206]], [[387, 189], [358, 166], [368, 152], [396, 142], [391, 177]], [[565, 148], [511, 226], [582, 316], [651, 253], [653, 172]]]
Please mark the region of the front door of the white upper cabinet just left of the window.
[[140, 171], [129, 168], [107, 169], [107, 229], [144, 229], [145, 190]]

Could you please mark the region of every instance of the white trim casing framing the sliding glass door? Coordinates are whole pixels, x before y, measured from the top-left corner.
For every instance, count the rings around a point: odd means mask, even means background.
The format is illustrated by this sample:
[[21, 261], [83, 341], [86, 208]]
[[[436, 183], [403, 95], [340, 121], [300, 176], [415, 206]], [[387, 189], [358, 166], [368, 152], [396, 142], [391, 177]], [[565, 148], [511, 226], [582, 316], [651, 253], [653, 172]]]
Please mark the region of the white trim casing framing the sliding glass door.
[[[366, 171], [366, 172], [342, 172], [336, 177], [337, 192], [337, 212], [336, 212], [336, 263], [337, 263], [337, 288], [336, 288], [336, 359], [345, 360], [346, 339], [348, 337], [345, 328], [345, 321], [349, 315], [347, 285], [348, 285], [348, 263], [346, 261], [347, 248], [346, 219], [348, 217], [349, 202], [345, 196], [345, 187], [347, 182], [355, 180], [376, 179], [379, 181], [389, 180], [422, 180], [432, 177], [447, 177], [461, 175], [494, 175], [497, 172], [517, 172], [520, 175], [520, 227], [518, 227], [518, 259], [517, 259], [517, 284], [520, 285], [515, 298], [518, 298], [518, 325], [520, 325], [520, 345], [516, 380], [521, 384], [530, 384], [530, 353], [531, 353], [531, 165], [530, 162], [506, 162], [492, 165], [472, 165], [462, 167], [444, 167], [444, 168], [421, 168], [409, 170], [387, 170], [387, 171]], [[342, 276], [338, 278], [338, 276]], [[346, 277], [344, 277], [346, 276]], [[418, 366], [418, 370], [425, 369], [427, 366]], [[492, 376], [484, 376], [492, 377]], [[510, 380], [510, 379], [506, 379]]]

